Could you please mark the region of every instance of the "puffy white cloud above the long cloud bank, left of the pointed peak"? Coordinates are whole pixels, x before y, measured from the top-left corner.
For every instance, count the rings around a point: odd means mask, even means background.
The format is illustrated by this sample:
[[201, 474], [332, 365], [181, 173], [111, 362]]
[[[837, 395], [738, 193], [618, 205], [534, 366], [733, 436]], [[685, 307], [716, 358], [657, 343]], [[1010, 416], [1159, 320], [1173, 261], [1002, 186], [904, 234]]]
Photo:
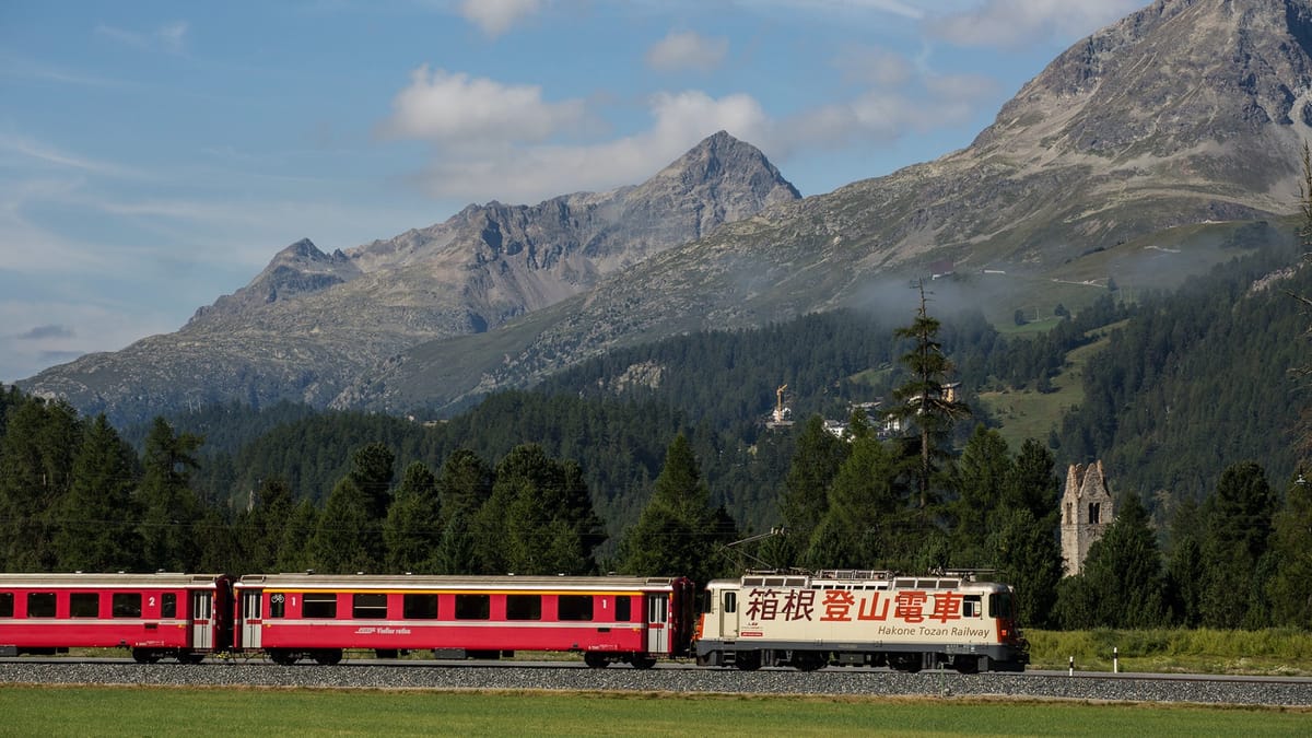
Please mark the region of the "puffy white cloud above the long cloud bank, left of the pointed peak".
[[505, 85], [422, 66], [392, 101], [382, 131], [440, 147], [542, 142], [583, 122], [581, 100], [546, 102], [537, 85]]

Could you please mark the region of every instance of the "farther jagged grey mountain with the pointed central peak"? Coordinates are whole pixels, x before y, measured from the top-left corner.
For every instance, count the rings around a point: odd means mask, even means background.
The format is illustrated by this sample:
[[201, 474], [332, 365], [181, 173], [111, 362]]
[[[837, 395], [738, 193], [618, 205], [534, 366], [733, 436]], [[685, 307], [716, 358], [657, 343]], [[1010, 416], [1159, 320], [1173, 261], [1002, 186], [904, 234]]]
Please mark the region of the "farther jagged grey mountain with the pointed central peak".
[[535, 206], [471, 205], [443, 223], [332, 255], [297, 242], [176, 334], [18, 385], [119, 422], [232, 399], [321, 407], [419, 343], [496, 328], [799, 198], [760, 150], [720, 131], [640, 185]]

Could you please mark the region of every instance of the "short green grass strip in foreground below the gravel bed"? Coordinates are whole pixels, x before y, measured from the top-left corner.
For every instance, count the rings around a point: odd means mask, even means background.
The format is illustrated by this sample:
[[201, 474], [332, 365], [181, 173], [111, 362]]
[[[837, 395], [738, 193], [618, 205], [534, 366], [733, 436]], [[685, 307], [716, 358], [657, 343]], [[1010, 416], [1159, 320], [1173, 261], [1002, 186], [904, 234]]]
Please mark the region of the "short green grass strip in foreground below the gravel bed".
[[1312, 712], [669, 693], [0, 687], [3, 735], [1305, 735]]

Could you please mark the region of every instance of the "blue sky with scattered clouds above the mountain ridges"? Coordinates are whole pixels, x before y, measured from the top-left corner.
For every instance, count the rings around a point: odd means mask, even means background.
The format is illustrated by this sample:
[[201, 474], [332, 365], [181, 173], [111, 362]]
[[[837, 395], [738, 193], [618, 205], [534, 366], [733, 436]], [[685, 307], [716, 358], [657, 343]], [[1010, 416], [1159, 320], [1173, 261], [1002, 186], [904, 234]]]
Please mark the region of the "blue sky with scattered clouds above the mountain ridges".
[[967, 146], [1147, 0], [0, 3], [0, 382], [287, 244], [636, 184], [720, 130], [803, 194]]

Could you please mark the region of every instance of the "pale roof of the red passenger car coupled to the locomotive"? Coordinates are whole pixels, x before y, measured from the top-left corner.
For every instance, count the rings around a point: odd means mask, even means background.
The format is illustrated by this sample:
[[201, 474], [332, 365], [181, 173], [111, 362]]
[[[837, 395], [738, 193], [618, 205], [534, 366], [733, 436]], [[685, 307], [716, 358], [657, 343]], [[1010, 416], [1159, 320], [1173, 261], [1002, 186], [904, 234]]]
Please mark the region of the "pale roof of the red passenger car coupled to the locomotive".
[[237, 587], [302, 590], [632, 590], [669, 591], [676, 576], [474, 576], [434, 574], [248, 574]]

